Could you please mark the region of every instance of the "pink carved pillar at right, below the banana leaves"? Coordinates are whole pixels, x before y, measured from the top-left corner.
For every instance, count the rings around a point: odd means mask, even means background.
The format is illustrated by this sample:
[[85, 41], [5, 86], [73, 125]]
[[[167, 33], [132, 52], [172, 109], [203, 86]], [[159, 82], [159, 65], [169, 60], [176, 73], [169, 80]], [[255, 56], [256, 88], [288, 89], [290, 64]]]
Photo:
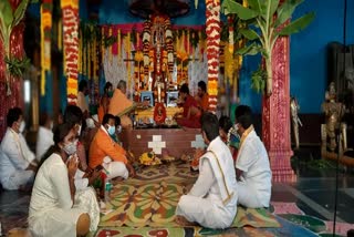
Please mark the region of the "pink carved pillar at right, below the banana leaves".
[[272, 52], [272, 95], [263, 96], [262, 136], [269, 154], [273, 182], [295, 182], [291, 168], [290, 137], [290, 41], [279, 38]]

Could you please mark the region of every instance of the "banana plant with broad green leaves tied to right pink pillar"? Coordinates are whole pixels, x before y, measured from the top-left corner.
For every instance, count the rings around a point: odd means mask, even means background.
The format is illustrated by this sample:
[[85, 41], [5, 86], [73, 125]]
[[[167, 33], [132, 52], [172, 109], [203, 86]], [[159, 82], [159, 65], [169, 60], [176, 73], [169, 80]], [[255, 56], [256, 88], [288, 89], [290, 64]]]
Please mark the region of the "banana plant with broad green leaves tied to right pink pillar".
[[[272, 93], [272, 50], [277, 39], [303, 30], [314, 19], [314, 13], [310, 12], [290, 21], [295, 8], [302, 2], [303, 0], [285, 0], [283, 3], [280, 3], [280, 0], [248, 0], [248, 7], [235, 0], [222, 2], [225, 14], [237, 14], [240, 25], [244, 25], [239, 32], [249, 40], [248, 44], [237, 53], [242, 55], [261, 53], [264, 59], [267, 74], [260, 76], [259, 70], [256, 71], [252, 83], [257, 85], [252, 87], [259, 91], [264, 91], [266, 87], [269, 96]], [[260, 85], [263, 87], [259, 87]]]

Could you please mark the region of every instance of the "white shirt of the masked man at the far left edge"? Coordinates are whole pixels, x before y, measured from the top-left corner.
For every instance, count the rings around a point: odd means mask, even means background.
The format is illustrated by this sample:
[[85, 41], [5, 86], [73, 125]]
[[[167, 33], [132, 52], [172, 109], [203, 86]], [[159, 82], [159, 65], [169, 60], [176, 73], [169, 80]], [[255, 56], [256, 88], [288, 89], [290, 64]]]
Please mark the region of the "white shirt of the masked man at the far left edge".
[[21, 133], [8, 127], [0, 148], [4, 155], [0, 157], [0, 178], [6, 182], [12, 173], [24, 171], [35, 158]]

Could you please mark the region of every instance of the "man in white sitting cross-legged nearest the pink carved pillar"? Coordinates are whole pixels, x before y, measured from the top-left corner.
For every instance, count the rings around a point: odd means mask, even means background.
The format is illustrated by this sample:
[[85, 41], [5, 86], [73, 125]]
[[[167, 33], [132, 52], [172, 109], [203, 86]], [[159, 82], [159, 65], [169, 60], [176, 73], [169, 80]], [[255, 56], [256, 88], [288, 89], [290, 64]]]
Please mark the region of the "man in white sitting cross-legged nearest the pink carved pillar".
[[235, 111], [235, 128], [241, 136], [236, 159], [239, 204], [246, 207], [269, 207], [272, 173], [263, 143], [252, 125], [252, 111], [239, 105]]

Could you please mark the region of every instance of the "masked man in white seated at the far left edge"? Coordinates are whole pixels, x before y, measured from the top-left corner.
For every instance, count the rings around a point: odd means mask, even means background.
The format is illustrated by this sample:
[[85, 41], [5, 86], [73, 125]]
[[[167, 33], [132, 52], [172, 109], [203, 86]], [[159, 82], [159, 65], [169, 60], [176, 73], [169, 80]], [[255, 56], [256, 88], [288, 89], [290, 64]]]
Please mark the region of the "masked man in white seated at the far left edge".
[[38, 164], [22, 135], [25, 124], [20, 107], [9, 110], [7, 124], [0, 145], [0, 181], [4, 189], [25, 188], [33, 182]]

